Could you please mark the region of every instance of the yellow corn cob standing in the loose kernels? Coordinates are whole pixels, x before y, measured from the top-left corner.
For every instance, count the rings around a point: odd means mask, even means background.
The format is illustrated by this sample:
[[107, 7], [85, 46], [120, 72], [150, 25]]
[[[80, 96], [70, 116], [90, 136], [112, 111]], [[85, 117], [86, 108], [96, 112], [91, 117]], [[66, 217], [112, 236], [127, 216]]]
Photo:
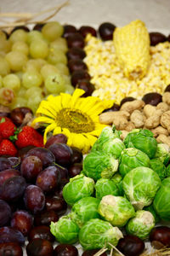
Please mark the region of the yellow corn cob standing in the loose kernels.
[[141, 79], [150, 64], [150, 36], [141, 20], [116, 28], [113, 34], [116, 58], [128, 79]]

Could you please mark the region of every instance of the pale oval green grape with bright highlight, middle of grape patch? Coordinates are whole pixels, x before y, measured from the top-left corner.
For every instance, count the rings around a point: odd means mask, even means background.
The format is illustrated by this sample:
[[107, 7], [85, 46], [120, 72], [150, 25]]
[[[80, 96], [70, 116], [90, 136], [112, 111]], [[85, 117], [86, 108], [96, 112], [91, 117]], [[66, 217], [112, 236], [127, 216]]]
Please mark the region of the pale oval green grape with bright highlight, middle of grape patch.
[[32, 86], [40, 86], [42, 84], [42, 75], [36, 70], [27, 71], [22, 76], [22, 84], [27, 89]]

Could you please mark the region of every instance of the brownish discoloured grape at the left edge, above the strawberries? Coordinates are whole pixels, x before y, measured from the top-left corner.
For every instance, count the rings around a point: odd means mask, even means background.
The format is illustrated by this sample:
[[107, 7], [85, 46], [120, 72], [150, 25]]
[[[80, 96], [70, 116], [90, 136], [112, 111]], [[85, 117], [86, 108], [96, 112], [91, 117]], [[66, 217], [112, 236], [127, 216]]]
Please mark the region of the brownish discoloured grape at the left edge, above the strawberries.
[[14, 90], [9, 88], [0, 89], [0, 104], [10, 106], [14, 102]]

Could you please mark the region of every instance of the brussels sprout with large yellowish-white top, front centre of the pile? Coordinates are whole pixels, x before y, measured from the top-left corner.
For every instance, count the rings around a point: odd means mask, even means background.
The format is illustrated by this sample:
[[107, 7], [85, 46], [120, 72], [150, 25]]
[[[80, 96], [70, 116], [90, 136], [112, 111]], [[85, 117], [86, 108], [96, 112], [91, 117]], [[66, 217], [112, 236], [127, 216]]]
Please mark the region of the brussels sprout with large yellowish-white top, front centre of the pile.
[[135, 216], [133, 206], [122, 196], [105, 195], [99, 203], [99, 214], [112, 225], [122, 227]]

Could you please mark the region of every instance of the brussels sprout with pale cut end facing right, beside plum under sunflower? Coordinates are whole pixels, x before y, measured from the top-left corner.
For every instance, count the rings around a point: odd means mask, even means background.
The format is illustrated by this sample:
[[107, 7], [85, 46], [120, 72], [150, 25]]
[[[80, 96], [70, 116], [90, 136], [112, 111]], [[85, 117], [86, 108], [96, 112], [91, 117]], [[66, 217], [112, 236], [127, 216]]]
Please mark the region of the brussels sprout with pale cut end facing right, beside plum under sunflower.
[[118, 160], [114, 156], [96, 151], [85, 157], [82, 172], [84, 175], [98, 180], [100, 177], [111, 178], [117, 168]]

